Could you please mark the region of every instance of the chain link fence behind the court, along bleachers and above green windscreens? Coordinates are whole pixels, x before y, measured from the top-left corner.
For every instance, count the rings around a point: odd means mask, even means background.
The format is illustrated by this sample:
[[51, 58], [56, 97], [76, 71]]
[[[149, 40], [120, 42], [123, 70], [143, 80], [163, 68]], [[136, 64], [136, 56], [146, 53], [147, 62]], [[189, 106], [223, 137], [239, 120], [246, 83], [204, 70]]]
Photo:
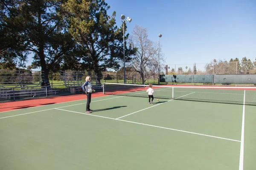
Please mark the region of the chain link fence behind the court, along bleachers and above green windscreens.
[[[256, 61], [160, 65], [160, 75], [158, 73], [149, 75], [149, 72], [152, 71], [144, 72], [144, 82], [142, 82], [140, 73], [127, 70], [126, 83], [158, 84], [161, 75], [256, 74]], [[98, 87], [98, 90], [102, 90], [103, 82], [124, 83], [124, 75], [116, 72], [105, 72], [105, 74], [98, 75], [87, 71], [59, 71], [47, 75], [49, 85], [44, 88], [41, 86], [41, 82], [44, 81], [45, 75], [41, 71], [0, 70], [0, 102], [64, 94], [61, 91], [68, 92], [66, 94], [77, 93], [81, 91], [81, 85], [88, 75], [91, 76], [92, 84], [95, 88]], [[96, 78], [98, 78], [97, 82]], [[165, 82], [161, 82], [161, 84], [163, 83]]]

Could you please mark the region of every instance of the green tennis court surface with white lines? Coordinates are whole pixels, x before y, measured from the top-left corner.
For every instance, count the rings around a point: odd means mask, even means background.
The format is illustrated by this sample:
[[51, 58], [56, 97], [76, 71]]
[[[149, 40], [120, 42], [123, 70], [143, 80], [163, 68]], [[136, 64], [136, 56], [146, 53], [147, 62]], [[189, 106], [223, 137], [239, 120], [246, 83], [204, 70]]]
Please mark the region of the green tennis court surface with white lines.
[[0, 169], [256, 169], [254, 90], [110, 89], [91, 114], [86, 97], [1, 112]]

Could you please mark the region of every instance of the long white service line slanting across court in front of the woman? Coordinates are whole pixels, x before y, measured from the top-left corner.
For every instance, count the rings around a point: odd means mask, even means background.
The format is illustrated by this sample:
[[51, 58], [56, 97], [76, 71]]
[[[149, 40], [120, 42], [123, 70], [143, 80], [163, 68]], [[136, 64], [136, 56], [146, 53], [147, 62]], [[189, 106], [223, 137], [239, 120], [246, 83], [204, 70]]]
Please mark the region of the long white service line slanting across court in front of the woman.
[[[67, 110], [63, 110], [63, 109], [57, 109], [57, 110], [67, 111]], [[194, 132], [189, 132], [189, 131], [185, 131], [185, 130], [177, 130], [177, 129], [172, 129], [172, 128], [168, 128], [168, 127], [161, 127], [161, 126], [155, 126], [155, 125], [148, 125], [148, 124], [144, 124], [144, 123], [131, 122], [131, 121], [127, 121], [127, 120], [114, 119], [114, 118], [110, 118], [110, 117], [98, 116], [98, 115], [87, 114], [87, 113], [81, 113], [81, 112], [76, 112], [76, 111], [67, 111], [67, 112], [85, 114], [85, 115], [89, 115], [89, 116], [102, 117], [102, 118], [112, 119], [112, 120], [118, 120], [118, 121], [122, 121], [122, 122], [129, 122], [129, 123], [134, 123], [134, 124], [139, 124], [139, 125], [145, 125], [145, 126], [151, 126], [151, 127], [158, 127], [158, 128], [162, 128], [162, 129], [174, 130], [174, 131], [179, 131], [179, 132], [184, 132], [184, 133], [191, 133], [191, 134], [195, 134], [195, 135], [201, 135], [201, 136], [207, 136], [207, 137], [212, 137], [212, 138], [225, 139], [225, 140], [229, 140], [229, 141], [241, 142], [241, 141], [234, 140], [234, 139], [221, 138], [221, 137], [218, 137], [218, 136], [205, 135], [205, 134], [194, 133]]]

